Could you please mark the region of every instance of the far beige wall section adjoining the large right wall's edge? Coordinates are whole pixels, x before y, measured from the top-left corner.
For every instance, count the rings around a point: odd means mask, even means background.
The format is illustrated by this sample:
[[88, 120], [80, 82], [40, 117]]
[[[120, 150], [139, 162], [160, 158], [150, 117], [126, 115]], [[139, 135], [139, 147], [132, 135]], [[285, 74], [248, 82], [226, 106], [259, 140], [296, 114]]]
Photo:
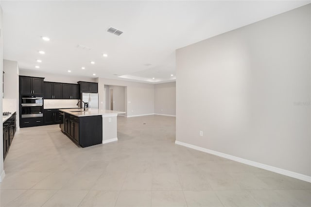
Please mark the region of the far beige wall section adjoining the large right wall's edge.
[[176, 82], [155, 85], [155, 114], [176, 115]]

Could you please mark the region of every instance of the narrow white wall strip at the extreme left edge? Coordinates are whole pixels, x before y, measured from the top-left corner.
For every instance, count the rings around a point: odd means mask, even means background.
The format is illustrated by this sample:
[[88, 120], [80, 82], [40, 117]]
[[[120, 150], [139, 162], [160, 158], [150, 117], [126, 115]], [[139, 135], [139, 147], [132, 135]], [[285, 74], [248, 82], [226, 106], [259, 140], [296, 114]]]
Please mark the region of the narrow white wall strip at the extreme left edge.
[[[2, 8], [1, 8], [1, 1], [0, 1], [0, 83], [1, 83], [1, 95], [0, 95], [0, 120], [2, 120], [2, 92], [3, 92], [3, 86], [2, 86], [2, 72], [3, 72], [3, 40], [2, 40]], [[3, 128], [0, 127], [0, 135], [3, 134]], [[0, 141], [0, 182], [4, 178], [5, 173], [3, 170], [3, 141]]]

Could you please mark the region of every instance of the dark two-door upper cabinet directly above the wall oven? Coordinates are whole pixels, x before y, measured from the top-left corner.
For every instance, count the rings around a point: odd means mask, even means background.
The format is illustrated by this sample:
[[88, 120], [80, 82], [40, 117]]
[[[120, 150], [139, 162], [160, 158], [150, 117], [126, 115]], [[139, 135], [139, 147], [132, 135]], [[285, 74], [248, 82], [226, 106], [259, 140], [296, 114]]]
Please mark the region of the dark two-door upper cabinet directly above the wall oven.
[[23, 95], [43, 95], [44, 78], [19, 76], [19, 93]]

